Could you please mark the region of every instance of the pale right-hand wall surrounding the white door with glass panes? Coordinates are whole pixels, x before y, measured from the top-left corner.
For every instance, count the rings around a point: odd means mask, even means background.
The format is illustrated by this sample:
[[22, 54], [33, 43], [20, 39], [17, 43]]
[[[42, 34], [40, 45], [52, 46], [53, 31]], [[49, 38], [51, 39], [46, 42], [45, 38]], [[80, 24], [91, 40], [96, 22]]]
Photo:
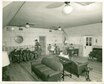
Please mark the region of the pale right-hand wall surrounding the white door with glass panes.
[[[68, 42], [79, 48], [80, 56], [83, 55], [83, 36], [93, 36], [93, 47], [102, 47], [102, 24], [89, 24], [65, 29], [68, 35]], [[96, 42], [97, 40], [97, 42]]]

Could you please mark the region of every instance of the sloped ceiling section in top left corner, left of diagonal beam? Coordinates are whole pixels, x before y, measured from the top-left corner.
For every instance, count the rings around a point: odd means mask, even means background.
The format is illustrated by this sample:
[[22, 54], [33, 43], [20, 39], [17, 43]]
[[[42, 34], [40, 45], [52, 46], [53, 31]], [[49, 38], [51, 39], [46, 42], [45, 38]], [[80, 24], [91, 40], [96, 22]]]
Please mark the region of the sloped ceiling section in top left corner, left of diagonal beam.
[[12, 2], [3, 8], [3, 27], [8, 26], [23, 2]]

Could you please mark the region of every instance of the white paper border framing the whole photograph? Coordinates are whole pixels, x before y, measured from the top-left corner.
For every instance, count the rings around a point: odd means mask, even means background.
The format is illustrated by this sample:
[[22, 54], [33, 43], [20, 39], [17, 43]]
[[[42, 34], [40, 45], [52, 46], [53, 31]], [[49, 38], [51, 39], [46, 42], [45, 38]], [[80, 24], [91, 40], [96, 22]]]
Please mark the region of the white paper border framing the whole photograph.
[[[102, 16], [103, 16], [103, 14], [104, 14], [104, 0], [0, 0], [0, 22], [1, 22], [1, 24], [0, 24], [0, 59], [2, 59], [2, 17], [3, 17], [3, 15], [2, 15], [2, 8], [3, 8], [3, 4], [2, 4], [2, 2], [3, 1], [51, 1], [51, 2], [60, 2], [60, 1], [62, 1], [62, 2], [64, 2], [64, 1], [70, 1], [70, 2], [102, 2], [103, 3], [103, 7], [102, 7], [102, 11], [103, 11], [103, 13], [102, 13]], [[103, 39], [103, 37], [104, 37], [104, 26], [103, 26], [103, 21], [104, 21], [104, 16], [103, 16], [103, 18], [102, 18], [102, 49], [103, 49], [103, 47], [104, 47], [104, 39]], [[103, 53], [104, 53], [104, 50], [103, 50]], [[103, 56], [103, 55], [102, 55]], [[102, 82], [13, 82], [13, 81], [10, 81], [10, 82], [2, 82], [2, 60], [0, 61], [0, 82], [1, 82], [1, 84], [40, 84], [40, 83], [42, 83], [42, 84], [63, 84], [63, 83], [70, 83], [70, 84], [83, 84], [83, 83], [85, 83], [85, 84], [104, 84], [104, 57], [103, 57], [103, 61], [102, 61]]]

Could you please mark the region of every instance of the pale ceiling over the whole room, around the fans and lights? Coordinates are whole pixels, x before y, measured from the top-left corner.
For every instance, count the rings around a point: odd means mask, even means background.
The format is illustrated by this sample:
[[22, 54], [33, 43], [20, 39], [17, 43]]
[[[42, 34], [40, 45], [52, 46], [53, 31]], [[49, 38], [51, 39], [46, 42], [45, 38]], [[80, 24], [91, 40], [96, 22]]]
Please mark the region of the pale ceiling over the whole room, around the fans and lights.
[[34, 23], [34, 28], [51, 28], [52, 26], [69, 28], [99, 23], [102, 20], [102, 3], [99, 2], [87, 7], [73, 2], [71, 4], [73, 11], [69, 15], [62, 12], [64, 4], [58, 8], [48, 9], [47, 6], [52, 2], [25, 2], [13, 18], [21, 4], [22, 2], [14, 2], [4, 9], [4, 25], [9, 23], [10, 26], [18, 26], [28, 22]]

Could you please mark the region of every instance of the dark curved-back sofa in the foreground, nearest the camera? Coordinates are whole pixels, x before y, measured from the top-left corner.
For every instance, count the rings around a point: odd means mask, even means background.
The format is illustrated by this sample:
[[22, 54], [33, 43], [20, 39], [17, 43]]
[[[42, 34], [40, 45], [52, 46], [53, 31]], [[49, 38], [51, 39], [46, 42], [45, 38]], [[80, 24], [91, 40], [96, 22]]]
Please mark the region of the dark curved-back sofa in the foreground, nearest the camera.
[[54, 56], [44, 57], [41, 62], [31, 62], [31, 71], [42, 81], [60, 81], [63, 65]]

